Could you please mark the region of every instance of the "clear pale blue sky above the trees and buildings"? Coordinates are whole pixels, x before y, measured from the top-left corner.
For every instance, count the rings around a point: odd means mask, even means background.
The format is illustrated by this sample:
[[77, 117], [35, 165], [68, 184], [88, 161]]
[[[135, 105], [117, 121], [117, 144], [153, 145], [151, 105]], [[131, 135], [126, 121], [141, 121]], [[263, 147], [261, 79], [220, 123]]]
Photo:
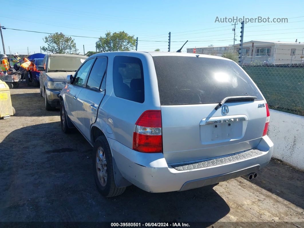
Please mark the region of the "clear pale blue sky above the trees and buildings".
[[[304, 42], [304, 1], [9, 1], [1, 10], [2, 26], [39, 32], [62, 32], [66, 35], [100, 37], [106, 31], [122, 31], [138, 37], [139, 51], [160, 48], [171, 51], [188, 42], [187, 47], [233, 44], [231, 23], [215, 23], [218, 17], [289, 18], [288, 23], [250, 23], [245, 25], [244, 41], [274, 40]], [[4, 6], [2, 4], [2, 6]], [[35, 16], [36, 15], [36, 16]], [[43, 33], [2, 30], [6, 54], [40, 52]], [[277, 34], [281, 33], [281, 34]], [[240, 24], [236, 26], [240, 35]], [[94, 38], [73, 37], [83, 53], [95, 51]], [[237, 37], [239, 40], [239, 37]], [[164, 41], [164, 42], [154, 42]], [[0, 51], [3, 54], [2, 46]]]

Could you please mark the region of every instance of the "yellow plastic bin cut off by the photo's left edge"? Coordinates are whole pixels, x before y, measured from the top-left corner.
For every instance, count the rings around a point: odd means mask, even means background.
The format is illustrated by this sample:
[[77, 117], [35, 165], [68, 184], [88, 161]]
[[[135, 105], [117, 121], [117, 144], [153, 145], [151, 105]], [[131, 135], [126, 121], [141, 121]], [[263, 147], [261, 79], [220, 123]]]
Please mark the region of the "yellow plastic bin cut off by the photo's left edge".
[[0, 118], [10, 118], [14, 114], [9, 86], [0, 80]]

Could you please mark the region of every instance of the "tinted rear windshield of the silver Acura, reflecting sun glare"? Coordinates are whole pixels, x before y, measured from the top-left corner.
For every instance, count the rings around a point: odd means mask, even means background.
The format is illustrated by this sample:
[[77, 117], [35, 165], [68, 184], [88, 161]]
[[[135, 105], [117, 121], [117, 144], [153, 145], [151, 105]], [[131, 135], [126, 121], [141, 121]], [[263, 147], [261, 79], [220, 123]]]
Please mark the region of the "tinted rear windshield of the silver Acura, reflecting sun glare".
[[250, 78], [233, 61], [153, 56], [161, 105], [219, 103], [227, 96], [256, 96]]

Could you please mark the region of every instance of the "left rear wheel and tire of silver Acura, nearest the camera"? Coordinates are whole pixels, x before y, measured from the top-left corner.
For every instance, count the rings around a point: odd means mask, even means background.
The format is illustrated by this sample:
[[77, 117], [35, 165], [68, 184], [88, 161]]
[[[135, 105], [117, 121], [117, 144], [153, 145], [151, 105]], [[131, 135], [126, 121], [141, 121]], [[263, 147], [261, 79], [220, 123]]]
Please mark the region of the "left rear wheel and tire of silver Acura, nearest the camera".
[[99, 136], [93, 148], [93, 175], [98, 191], [105, 197], [123, 194], [126, 187], [115, 184], [111, 149], [104, 135]]

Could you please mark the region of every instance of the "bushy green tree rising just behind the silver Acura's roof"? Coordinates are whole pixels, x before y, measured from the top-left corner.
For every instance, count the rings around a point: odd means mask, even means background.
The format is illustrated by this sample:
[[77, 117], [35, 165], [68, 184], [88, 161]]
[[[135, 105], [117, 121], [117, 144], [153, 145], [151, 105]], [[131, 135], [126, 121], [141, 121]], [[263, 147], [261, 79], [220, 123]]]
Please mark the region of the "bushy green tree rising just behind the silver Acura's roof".
[[120, 32], [107, 32], [105, 37], [100, 37], [96, 42], [98, 52], [107, 51], [130, 51], [134, 49], [136, 39], [124, 31]]

